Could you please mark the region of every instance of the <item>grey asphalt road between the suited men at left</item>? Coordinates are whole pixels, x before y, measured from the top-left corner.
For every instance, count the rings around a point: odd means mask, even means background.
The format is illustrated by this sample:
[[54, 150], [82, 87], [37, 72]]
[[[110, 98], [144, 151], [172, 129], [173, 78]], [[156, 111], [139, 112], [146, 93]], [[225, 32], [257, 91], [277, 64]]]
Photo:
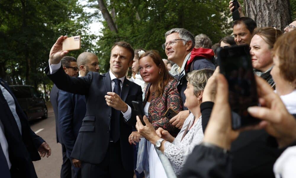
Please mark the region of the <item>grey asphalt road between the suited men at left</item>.
[[[41, 136], [52, 149], [52, 154], [39, 161], [34, 161], [35, 170], [39, 178], [58, 178], [62, 165], [62, 146], [56, 141], [54, 112], [50, 102], [46, 103], [48, 107], [48, 118], [38, 119], [30, 122], [31, 129]], [[43, 129], [43, 130], [41, 130]]]

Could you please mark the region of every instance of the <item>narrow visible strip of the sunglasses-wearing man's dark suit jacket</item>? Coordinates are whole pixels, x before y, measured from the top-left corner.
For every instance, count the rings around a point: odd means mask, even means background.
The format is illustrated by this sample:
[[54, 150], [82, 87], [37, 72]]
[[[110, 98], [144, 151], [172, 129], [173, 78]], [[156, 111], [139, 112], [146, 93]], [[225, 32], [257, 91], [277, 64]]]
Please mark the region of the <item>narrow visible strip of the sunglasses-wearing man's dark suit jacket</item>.
[[57, 138], [57, 143], [63, 144], [61, 134], [59, 131], [59, 120], [58, 120], [58, 103], [57, 99], [59, 98], [59, 89], [57, 86], [54, 84], [52, 86], [52, 90], [50, 91], [50, 102], [52, 103], [52, 108], [54, 109], [54, 117], [56, 121], [56, 138]]

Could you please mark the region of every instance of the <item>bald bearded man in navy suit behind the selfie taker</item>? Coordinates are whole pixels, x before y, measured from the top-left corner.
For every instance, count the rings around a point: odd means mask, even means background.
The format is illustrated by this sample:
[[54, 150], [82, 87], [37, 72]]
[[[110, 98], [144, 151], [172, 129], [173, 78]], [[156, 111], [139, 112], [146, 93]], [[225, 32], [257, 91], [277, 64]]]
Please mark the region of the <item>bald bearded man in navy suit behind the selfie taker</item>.
[[[61, 60], [62, 66], [65, 66], [64, 64], [67, 63], [67, 61], [68, 60], [63, 57]], [[86, 76], [89, 71], [98, 72], [98, 57], [94, 53], [81, 53], [77, 58], [77, 66], [79, 69], [79, 77]], [[65, 73], [67, 74], [66, 71]], [[78, 178], [81, 177], [81, 161], [71, 158], [70, 155], [86, 113], [85, 96], [59, 90], [58, 106], [59, 128], [66, 148], [67, 158], [71, 160], [72, 177]]]

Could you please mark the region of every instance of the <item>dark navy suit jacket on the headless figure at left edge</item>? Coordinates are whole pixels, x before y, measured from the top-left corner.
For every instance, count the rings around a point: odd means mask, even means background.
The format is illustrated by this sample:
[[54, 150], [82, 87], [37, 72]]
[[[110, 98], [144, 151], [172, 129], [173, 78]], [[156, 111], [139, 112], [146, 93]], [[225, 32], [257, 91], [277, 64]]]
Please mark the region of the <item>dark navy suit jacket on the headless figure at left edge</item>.
[[0, 119], [4, 126], [4, 134], [8, 143], [9, 160], [23, 177], [37, 177], [32, 161], [41, 159], [37, 148], [45, 141], [31, 130], [27, 117], [18, 104], [17, 99], [8, 84], [1, 78], [0, 85], [14, 98], [16, 112], [22, 125], [21, 135], [9, 105], [2, 92], [0, 92]]

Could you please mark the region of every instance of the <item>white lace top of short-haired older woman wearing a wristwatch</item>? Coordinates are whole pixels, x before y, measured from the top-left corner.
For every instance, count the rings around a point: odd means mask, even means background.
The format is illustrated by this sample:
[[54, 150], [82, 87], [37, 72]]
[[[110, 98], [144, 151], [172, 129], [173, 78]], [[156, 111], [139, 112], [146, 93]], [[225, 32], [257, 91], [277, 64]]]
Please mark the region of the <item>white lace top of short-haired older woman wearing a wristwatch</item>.
[[187, 156], [192, 153], [194, 147], [200, 144], [203, 140], [204, 134], [202, 131], [202, 117], [198, 118], [197, 122], [192, 126], [192, 128], [188, 131], [185, 137], [182, 139], [182, 136], [188, 126], [189, 128], [193, 124], [194, 115], [190, 113], [190, 115], [186, 118], [184, 125], [176, 136], [175, 140], [170, 142], [165, 142], [165, 150], [164, 154], [170, 160], [171, 165], [176, 173], [176, 175], [181, 174], [181, 170], [185, 164]]

